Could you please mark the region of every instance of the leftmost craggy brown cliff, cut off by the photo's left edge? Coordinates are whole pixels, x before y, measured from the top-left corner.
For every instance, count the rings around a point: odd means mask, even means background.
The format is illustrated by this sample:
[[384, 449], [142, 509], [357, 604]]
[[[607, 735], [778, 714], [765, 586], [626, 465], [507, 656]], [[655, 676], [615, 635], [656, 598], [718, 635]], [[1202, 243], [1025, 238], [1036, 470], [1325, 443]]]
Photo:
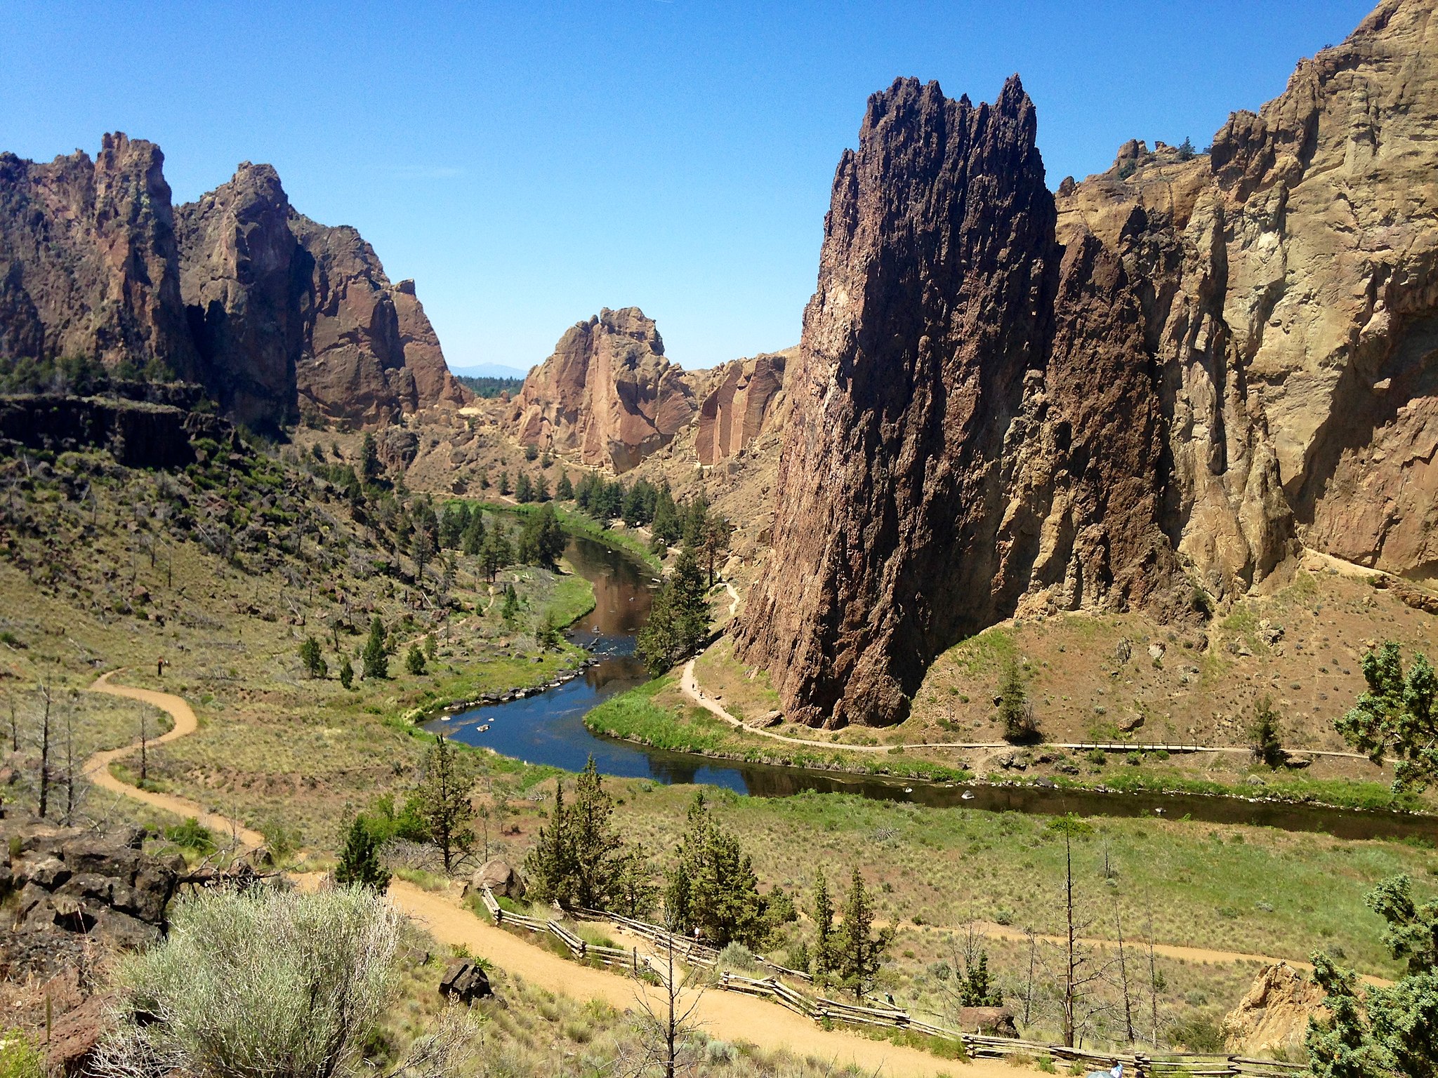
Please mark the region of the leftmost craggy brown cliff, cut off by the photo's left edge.
[[160, 361], [194, 377], [162, 162], [122, 134], [93, 161], [0, 154], [0, 354]]

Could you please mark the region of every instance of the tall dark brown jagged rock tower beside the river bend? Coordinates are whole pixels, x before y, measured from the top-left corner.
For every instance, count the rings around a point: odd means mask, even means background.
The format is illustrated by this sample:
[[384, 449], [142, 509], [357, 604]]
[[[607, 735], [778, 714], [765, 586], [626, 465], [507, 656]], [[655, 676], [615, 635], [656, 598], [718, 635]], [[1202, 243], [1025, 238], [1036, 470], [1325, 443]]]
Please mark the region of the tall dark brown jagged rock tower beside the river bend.
[[739, 630], [791, 719], [902, 719], [933, 654], [1022, 591], [1002, 457], [1060, 260], [1034, 126], [1018, 79], [992, 106], [902, 79], [840, 161], [787, 378], [782, 571]]

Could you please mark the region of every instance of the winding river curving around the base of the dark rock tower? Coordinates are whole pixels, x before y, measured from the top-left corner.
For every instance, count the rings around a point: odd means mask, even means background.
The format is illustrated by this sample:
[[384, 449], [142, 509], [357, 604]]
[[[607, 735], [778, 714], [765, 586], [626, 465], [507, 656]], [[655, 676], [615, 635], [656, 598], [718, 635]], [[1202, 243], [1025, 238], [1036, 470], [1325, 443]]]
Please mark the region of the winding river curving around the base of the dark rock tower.
[[592, 539], [571, 538], [565, 558], [594, 584], [595, 607], [569, 630], [569, 638], [598, 660], [582, 676], [536, 696], [486, 704], [453, 717], [436, 719], [430, 730], [466, 745], [493, 749], [529, 763], [580, 770], [592, 755], [605, 775], [663, 783], [706, 783], [762, 798], [805, 791], [856, 793], [881, 801], [929, 806], [963, 806], [994, 812], [1034, 812], [1081, 816], [1189, 816], [1214, 824], [1252, 824], [1284, 831], [1322, 831], [1337, 838], [1434, 838], [1431, 818], [1398, 812], [1350, 812], [1313, 805], [1287, 805], [1211, 798], [1189, 793], [1104, 793], [1041, 786], [930, 783], [880, 779], [843, 772], [718, 760], [664, 752], [600, 737], [584, 716], [601, 700], [643, 684], [644, 664], [634, 655], [634, 637], [649, 617], [654, 581], [630, 558]]

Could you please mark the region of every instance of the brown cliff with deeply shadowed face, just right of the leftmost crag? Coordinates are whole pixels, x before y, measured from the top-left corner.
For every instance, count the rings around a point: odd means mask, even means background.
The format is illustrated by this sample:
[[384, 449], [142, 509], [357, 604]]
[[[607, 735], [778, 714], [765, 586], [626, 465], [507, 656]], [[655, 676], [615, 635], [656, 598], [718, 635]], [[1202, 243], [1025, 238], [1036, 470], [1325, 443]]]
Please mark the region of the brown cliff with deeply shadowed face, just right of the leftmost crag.
[[361, 424], [460, 405], [413, 282], [391, 285], [349, 227], [296, 213], [270, 165], [178, 207], [183, 292], [213, 391], [236, 418], [302, 404]]

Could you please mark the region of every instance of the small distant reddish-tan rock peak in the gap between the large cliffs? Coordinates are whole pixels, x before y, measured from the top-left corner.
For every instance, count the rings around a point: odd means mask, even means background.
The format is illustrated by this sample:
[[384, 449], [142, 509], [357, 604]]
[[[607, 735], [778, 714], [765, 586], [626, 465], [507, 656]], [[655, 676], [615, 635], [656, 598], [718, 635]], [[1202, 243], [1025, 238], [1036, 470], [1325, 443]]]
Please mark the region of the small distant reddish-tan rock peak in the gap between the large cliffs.
[[512, 421], [523, 443], [620, 473], [667, 446], [693, 415], [693, 390], [664, 358], [653, 319], [638, 308], [605, 308], [529, 372]]

